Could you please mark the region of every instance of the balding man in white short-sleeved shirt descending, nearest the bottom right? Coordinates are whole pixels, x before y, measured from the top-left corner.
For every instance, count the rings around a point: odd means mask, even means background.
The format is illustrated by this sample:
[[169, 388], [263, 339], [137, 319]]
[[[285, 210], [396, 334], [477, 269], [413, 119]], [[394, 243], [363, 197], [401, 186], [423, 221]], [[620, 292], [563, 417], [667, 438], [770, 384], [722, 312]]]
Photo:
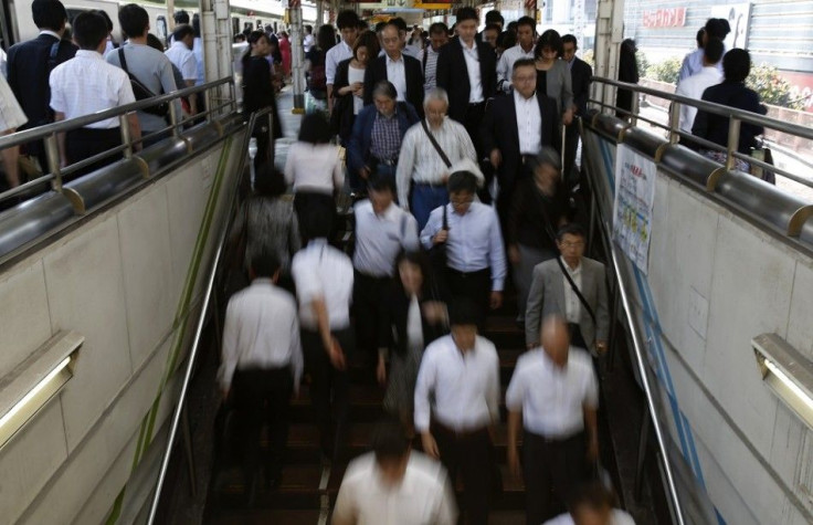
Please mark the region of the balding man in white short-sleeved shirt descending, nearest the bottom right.
[[[564, 510], [599, 454], [599, 386], [590, 355], [570, 347], [564, 319], [548, 317], [541, 348], [521, 355], [508, 385], [508, 465], [519, 471], [522, 437], [526, 523], [537, 525]], [[556, 497], [551, 497], [555, 495]]]

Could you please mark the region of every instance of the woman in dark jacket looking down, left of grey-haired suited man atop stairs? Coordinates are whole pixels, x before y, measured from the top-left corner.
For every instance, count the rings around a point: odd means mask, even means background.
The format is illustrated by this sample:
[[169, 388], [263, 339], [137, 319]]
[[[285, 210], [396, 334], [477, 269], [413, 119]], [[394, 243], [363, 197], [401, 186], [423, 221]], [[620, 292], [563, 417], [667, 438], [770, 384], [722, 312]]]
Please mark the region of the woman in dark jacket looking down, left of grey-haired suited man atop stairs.
[[365, 107], [365, 71], [379, 51], [381, 46], [376, 33], [365, 31], [356, 39], [352, 59], [339, 62], [336, 67], [330, 130], [339, 135], [342, 146], [347, 146], [356, 115]]

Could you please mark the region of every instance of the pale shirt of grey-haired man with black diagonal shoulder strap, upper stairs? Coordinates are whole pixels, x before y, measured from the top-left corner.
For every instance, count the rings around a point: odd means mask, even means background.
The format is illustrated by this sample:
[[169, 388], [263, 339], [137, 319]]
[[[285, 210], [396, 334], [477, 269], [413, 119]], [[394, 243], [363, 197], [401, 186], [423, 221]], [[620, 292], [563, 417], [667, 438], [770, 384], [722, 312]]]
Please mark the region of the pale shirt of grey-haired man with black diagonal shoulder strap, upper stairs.
[[[426, 123], [429, 126], [429, 122]], [[477, 161], [474, 144], [462, 124], [445, 117], [439, 129], [430, 133], [437, 145], [446, 154], [448, 160], [454, 165], [461, 159], [467, 158]], [[398, 181], [398, 201], [404, 207], [408, 204], [410, 182], [441, 185], [443, 175], [450, 175], [450, 169], [441, 158], [440, 154], [426, 137], [421, 123], [415, 124], [406, 130], [401, 145], [401, 156], [398, 159], [395, 180]]]

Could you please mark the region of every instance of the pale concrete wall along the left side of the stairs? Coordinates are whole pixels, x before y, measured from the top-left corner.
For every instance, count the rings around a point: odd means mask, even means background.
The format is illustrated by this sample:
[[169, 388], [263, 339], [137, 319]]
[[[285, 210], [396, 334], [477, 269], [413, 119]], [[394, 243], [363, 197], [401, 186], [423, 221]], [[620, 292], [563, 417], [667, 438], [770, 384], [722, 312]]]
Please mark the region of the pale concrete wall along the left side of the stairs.
[[[4, 523], [101, 523], [130, 477], [139, 431], [178, 333], [172, 323], [221, 150], [0, 275], [0, 377], [60, 329], [85, 337], [74, 377], [0, 450]], [[234, 172], [228, 177], [224, 189]], [[204, 273], [205, 265], [199, 281]], [[176, 392], [171, 380], [156, 429], [171, 413]]]

